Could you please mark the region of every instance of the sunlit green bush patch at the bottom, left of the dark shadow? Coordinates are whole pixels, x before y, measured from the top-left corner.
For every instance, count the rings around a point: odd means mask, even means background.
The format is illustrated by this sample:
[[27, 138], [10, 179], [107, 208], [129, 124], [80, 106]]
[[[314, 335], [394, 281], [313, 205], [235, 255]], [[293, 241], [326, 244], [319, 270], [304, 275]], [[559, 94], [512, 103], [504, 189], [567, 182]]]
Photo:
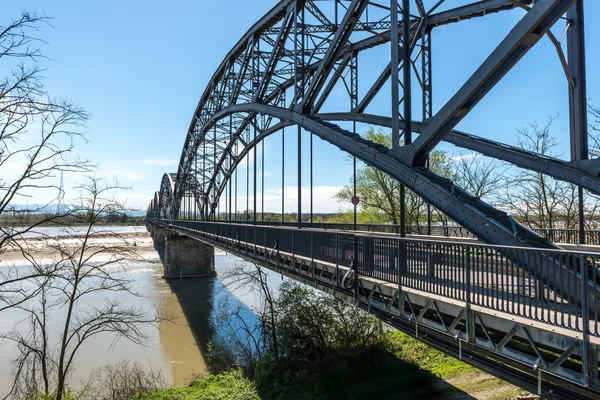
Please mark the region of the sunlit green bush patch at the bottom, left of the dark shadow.
[[149, 392], [133, 400], [260, 400], [260, 397], [254, 383], [235, 370], [210, 375], [184, 388]]

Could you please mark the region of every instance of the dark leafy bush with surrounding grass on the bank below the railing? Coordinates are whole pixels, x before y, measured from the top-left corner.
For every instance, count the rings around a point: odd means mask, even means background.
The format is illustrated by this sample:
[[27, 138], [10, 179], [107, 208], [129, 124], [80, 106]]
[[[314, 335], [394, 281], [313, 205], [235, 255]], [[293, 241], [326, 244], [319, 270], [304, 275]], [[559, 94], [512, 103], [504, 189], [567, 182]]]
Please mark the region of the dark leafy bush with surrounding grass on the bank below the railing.
[[[247, 358], [258, 359], [251, 365], [231, 354], [229, 372], [135, 399], [505, 399], [520, 394], [408, 335], [386, 331], [379, 320], [343, 300], [299, 284], [284, 283], [274, 309], [279, 357], [268, 344], [262, 357]], [[229, 351], [247, 355], [255, 349]]]

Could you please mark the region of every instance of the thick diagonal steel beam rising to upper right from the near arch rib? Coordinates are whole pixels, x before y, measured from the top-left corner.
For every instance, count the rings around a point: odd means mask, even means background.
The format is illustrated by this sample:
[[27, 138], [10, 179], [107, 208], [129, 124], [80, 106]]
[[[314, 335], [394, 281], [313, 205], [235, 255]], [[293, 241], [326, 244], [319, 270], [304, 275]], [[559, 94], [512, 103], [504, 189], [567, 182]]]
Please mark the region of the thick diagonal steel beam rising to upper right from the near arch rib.
[[429, 152], [542, 38], [575, 0], [538, 1], [458, 92], [431, 118], [418, 139], [396, 156], [407, 165], [424, 166]]

